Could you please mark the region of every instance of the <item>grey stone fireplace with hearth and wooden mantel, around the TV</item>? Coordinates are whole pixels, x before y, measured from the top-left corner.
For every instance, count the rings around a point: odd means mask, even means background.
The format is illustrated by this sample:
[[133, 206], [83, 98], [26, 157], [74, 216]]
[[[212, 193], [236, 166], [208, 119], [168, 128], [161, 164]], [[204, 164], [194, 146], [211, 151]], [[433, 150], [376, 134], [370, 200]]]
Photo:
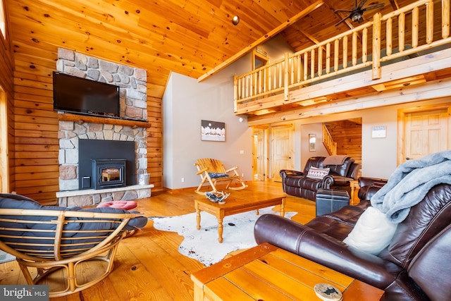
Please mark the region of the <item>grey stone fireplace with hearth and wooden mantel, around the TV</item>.
[[[116, 63], [101, 61], [84, 54], [78, 54], [68, 49], [58, 49], [57, 70], [81, 78], [89, 78], [99, 82], [108, 82], [120, 87], [121, 94], [121, 119], [122, 120], [147, 120], [147, 75], [146, 70], [131, 68]], [[108, 123], [104, 118], [96, 118], [95, 122], [84, 122], [82, 116], [78, 121], [67, 121], [59, 118], [59, 187], [57, 192], [58, 202], [61, 206], [91, 206], [100, 202], [113, 200], [140, 199], [150, 197], [150, 188], [153, 185], [135, 185], [137, 175], [147, 173], [147, 128], [137, 125], [121, 125]], [[75, 118], [77, 119], [77, 118]], [[106, 119], [106, 118], [105, 118]], [[85, 144], [92, 142], [94, 145], [106, 143], [104, 157], [96, 156], [87, 161], [81, 157], [87, 152]], [[123, 146], [111, 144], [121, 142], [132, 147], [132, 158], [117, 155], [116, 151]], [[80, 148], [81, 145], [81, 148]], [[118, 157], [119, 156], [119, 157]], [[125, 159], [128, 161], [125, 168], [127, 179], [125, 186], [115, 188], [106, 186], [96, 190], [92, 185], [92, 159]], [[89, 174], [84, 170], [89, 165]], [[91, 177], [91, 178], [89, 178]], [[96, 177], [94, 175], [94, 177]], [[89, 185], [87, 183], [89, 182]], [[84, 188], [83, 188], [84, 187]]]

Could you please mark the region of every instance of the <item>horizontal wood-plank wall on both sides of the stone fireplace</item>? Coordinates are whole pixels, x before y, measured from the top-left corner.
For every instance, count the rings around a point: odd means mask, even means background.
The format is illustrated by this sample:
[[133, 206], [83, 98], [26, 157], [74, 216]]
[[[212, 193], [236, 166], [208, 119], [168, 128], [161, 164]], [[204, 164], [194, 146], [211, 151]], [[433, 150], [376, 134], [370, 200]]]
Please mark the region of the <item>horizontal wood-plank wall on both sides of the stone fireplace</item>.
[[[16, 192], [45, 204], [54, 203], [59, 191], [59, 143], [51, 75], [56, 70], [57, 47], [18, 44], [15, 52]], [[147, 109], [152, 123], [147, 129], [148, 171], [154, 191], [158, 191], [162, 190], [161, 99], [147, 97]]]

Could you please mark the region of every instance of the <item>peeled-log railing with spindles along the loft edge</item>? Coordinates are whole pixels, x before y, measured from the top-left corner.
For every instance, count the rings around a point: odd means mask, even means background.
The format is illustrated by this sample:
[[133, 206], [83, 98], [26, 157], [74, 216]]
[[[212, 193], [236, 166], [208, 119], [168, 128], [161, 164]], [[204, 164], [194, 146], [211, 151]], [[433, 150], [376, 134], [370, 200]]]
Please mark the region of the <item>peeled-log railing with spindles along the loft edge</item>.
[[[381, 78], [381, 63], [450, 43], [450, 1], [442, 0], [440, 5], [421, 0], [385, 16], [376, 13], [371, 22], [295, 54], [285, 54], [283, 59], [245, 75], [235, 75], [235, 113], [257, 111], [249, 109], [249, 103], [264, 97], [283, 95], [288, 101], [290, 90], [354, 70], [372, 68], [372, 79], [377, 80]], [[434, 26], [441, 30], [434, 34]], [[419, 37], [425, 39], [420, 41]]]

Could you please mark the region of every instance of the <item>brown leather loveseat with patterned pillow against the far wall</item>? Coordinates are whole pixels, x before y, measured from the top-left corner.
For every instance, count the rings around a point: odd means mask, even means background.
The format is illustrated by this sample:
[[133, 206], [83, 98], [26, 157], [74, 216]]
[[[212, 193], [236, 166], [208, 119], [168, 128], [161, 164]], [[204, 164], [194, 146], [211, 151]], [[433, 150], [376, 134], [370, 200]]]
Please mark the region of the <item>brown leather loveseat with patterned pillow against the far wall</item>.
[[[346, 190], [351, 195], [351, 181], [357, 178], [360, 164], [354, 159], [347, 157], [340, 165], [323, 165], [325, 156], [312, 156], [307, 160], [304, 171], [290, 171], [283, 169], [280, 171], [282, 177], [283, 192], [295, 197], [303, 197], [314, 201], [316, 191], [323, 189]], [[322, 180], [308, 178], [307, 174], [311, 167], [330, 168], [328, 176]]]

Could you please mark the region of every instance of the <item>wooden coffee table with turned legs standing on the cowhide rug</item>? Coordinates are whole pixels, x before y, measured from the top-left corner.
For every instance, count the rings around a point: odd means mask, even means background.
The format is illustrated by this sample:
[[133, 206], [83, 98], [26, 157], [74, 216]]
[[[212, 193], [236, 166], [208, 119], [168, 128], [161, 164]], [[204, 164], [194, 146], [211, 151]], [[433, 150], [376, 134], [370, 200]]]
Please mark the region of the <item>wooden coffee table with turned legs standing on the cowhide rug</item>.
[[223, 219], [224, 216], [238, 214], [246, 211], [280, 205], [280, 216], [285, 215], [285, 194], [275, 194], [270, 192], [261, 192], [254, 190], [233, 191], [226, 199], [226, 204], [211, 202], [204, 197], [194, 199], [194, 208], [196, 209], [197, 230], [200, 230], [200, 211], [213, 214], [218, 219], [218, 240], [223, 242]]

